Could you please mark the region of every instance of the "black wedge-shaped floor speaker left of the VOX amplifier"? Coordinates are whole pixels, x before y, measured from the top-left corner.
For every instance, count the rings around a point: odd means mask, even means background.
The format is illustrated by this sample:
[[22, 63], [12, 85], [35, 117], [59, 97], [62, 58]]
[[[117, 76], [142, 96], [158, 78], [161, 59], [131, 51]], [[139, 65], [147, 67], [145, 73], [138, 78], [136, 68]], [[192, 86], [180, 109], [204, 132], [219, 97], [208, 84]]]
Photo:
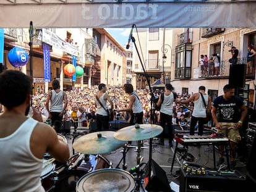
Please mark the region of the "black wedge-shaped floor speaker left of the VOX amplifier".
[[[149, 164], [147, 163], [147, 167], [148, 165]], [[146, 172], [146, 175], [148, 175], [148, 170]], [[148, 192], [172, 191], [171, 186], [168, 182], [168, 178], [166, 177], [166, 172], [164, 172], [164, 170], [153, 159], [151, 160], [150, 175], [150, 180], [148, 180], [148, 176], [144, 178], [144, 183]]]

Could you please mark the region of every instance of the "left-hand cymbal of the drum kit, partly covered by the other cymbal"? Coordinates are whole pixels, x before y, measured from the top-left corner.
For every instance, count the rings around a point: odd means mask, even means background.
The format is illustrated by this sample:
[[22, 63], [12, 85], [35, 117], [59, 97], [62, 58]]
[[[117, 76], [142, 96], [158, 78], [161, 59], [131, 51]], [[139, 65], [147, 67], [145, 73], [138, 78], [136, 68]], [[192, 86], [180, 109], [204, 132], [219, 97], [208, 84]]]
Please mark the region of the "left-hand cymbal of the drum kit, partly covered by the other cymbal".
[[83, 154], [103, 154], [114, 151], [126, 143], [116, 140], [114, 133], [114, 131], [88, 133], [75, 140], [73, 148]]

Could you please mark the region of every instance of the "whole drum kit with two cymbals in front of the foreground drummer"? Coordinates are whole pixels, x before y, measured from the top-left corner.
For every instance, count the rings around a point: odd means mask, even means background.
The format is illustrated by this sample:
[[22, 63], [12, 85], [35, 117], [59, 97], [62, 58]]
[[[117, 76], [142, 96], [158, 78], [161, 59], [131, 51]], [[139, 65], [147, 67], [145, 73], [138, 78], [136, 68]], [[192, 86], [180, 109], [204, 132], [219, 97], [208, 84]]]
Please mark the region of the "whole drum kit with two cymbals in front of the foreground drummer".
[[[125, 164], [127, 141], [151, 140], [162, 131], [160, 125], [135, 124], [117, 131], [98, 131], [80, 136], [73, 143], [77, 153], [71, 156], [66, 164], [54, 162], [54, 159], [48, 156], [45, 158], [45, 169], [41, 173], [42, 185], [47, 192], [140, 191], [142, 175], [138, 180], [131, 172], [113, 168], [111, 162], [100, 154], [124, 147], [122, 159]], [[64, 139], [63, 141], [67, 142]], [[142, 164], [141, 148], [143, 147], [137, 146], [137, 165]]]

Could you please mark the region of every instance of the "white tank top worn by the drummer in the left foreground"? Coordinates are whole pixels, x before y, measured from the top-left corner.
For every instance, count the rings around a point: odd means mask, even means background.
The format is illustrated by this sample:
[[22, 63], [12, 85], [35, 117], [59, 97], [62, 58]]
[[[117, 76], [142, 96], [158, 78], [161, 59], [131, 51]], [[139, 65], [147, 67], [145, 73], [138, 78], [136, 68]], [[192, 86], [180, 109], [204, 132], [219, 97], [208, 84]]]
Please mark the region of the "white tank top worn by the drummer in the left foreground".
[[30, 117], [12, 135], [0, 138], [0, 191], [45, 191], [40, 180], [43, 159], [30, 151], [30, 136], [36, 123]]

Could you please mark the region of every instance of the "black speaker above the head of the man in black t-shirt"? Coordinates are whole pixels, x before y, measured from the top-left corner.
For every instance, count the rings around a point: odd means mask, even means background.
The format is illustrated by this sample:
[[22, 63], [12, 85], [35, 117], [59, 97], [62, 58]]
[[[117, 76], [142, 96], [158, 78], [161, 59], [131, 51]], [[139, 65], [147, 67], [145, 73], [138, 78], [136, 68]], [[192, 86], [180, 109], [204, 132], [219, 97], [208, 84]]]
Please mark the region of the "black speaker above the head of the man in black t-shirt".
[[229, 84], [243, 88], [245, 84], [245, 72], [246, 72], [245, 70], [246, 70], [245, 64], [230, 65]]

